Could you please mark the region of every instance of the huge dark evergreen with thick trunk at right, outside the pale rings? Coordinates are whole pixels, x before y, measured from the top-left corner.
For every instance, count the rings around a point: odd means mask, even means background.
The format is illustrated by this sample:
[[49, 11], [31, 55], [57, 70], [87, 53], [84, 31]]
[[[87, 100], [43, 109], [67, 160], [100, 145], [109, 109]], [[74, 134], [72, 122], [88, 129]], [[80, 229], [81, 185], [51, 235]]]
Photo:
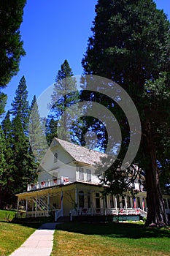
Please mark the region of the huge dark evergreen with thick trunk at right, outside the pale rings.
[[[146, 178], [146, 224], [167, 225], [158, 160], [169, 140], [169, 20], [152, 0], [98, 0], [92, 31], [82, 65], [87, 74], [114, 80], [134, 100], [142, 121], [139, 163]], [[163, 152], [169, 159], [169, 151]]]

